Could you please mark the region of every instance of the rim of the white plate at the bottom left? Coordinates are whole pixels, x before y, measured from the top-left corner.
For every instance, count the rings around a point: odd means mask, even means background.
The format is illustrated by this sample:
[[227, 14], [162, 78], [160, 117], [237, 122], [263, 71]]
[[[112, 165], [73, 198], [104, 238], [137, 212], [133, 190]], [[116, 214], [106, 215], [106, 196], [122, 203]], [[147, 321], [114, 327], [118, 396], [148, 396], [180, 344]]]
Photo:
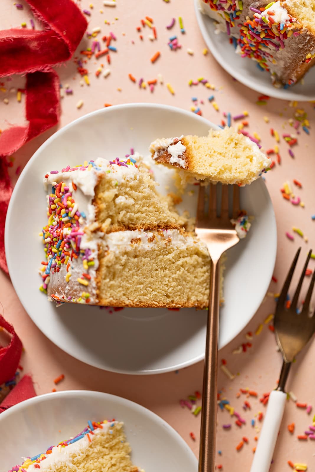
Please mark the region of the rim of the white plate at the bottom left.
[[[158, 414], [154, 413], [152, 410], [149, 410], [149, 408], [146, 408], [143, 405], [140, 405], [139, 403], [136, 403], [132, 400], [129, 400], [128, 398], [125, 398], [123, 396], [118, 396], [118, 395], [113, 395], [111, 393], [106, 393], [106, 392], [100, 392], [98, 390], [62, 390], [60, 392], [50, 392], [50, 393], [45, 393], [42, 395], [37, 395], [32, 398], [28, 398], [27, 400], [23, 400], [20, 403], [17, 403], [16, 405], [11, 406], [8, 408], [6, 411], [4, 411], [0, 415], [0, 426], [2, 421], [4, 421], [6, 418], [9, 418], [10, 415], [14, 414], [15, 412], [18, 412], [19, 410], [23, 410], [27, 408], [28, 405], [36, 405], [36, 403], [45, 401], [45, 400], [50, 400], [50, 398], [63, 398], [67, 396], [76, 396], [76, 397], [82, 397], [82, 396], [88, 396], [89, 400], [92, 400], [95, 397], [98, 398], [103, 398], [104, 401], [116, 401], [118, 404], [124, 404], [127, 405], [128, 408], [131, 410], [136, 411], [136, 413], [143, 413], [147, 418], [149, 418], [150, 421], [153, 423], [159, 422], [161, 427], [165, 428], [168, 430], [170, 435], [176, 440], [176, 442], [180, 445], [181, 449], [186, 452], [187, 456], [190, 456], [190, 459], [195, 461], [196, 463], [196, 468], [198, 464], [198, 460], [196, 458], [196, 455], [193, 453], [192, 449], [188, 446], [187, 442], [185, 441], [184, 438], [179, 434], [177, 430], [175, 430], [167, 421], [165, 421], [161, 416]], [[124, 421], [121, 419], [121, 421]]]

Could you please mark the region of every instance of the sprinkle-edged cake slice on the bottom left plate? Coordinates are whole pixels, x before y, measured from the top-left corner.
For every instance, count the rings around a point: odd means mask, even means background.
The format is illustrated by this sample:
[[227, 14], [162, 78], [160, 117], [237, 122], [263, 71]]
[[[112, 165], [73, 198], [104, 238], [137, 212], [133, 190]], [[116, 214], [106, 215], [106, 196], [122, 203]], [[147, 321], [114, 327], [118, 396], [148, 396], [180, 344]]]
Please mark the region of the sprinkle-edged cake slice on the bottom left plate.
[[74, 438], [49, 447], [43, 454], [25, 457], [9, 472], [138, 472], [130, 459], [123, 423], [89, 421]]

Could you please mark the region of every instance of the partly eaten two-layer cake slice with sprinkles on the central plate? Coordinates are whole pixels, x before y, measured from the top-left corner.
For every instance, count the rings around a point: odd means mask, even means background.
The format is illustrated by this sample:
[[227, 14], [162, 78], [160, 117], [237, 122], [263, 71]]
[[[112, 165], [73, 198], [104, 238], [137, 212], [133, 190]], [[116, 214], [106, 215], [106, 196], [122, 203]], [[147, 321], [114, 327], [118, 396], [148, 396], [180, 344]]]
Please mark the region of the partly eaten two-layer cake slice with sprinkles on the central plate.
[[208, 306], [210, 257], [136, 160], [98, 158], [44, 179], [41, 290], [58, 303]]

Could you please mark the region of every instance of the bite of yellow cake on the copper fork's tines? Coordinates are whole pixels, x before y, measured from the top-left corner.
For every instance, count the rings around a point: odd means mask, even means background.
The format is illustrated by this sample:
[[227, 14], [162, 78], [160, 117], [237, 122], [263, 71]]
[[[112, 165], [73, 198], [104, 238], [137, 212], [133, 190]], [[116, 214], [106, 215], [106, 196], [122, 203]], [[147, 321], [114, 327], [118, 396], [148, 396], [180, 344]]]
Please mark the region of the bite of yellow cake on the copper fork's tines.
[[250, 184], [271, 164], [247, 136], [228, 127], [208, 136], [157, 139], [150, 152], [156, 162], [184, 169], [189, 177], [223, 184]]

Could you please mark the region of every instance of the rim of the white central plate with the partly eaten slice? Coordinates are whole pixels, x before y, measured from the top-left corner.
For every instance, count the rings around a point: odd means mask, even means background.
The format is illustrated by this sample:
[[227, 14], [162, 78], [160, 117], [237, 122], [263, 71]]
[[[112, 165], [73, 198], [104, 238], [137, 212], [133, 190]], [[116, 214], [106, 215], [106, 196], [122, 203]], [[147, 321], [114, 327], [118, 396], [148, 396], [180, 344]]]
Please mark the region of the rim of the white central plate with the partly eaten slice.
[[[69, 128], [71, 128], [72, 126], [75, 126], [78, 122], [80, 121], [84, 121], [85, 119], [88, 119], [90, 116], [92, 115], [98, 115], [98, 114], [102, 114], [102, 113], [108, 113], [110, 112], [110, 110], [114, 110], [114, 109], [124, 109], [124, 108], [133, 108], [133, 107], [144, 107], [144, 108], [157, 108], [157, 109], [164, 109], [164, 110], [171, 110], [171, 111], [177, 111], [177, 112], [180, 112], [180, 113], [183, 113], [184, 115], [187, 115], [189, 117], [192, 116], [192, 113], [191, 111], [187, 111], [187, 110], [184, 110], [182, 108], [179, 108], [179, 107], [174, 107], [174, 106], [171, 106], [171, 105], [165, 105], [165, 104], [159, 104], [159, 103], [141, 103], [141, 102], [131, 102], [131, 103], [123, 103], [123, 104], [119, 104], [119, 105], [112, 105], [111, 107], [106, 107], [106, 108], [102, 108], [102, 109], [99, 109], [99, 110], [94, 110], [90, 113], [87, 113], [85, 115], [83, 115], [82, 117], [79, 117], [77, 119], [75, 119], [74, 121], [71, 121], [70, 123], [68, 123], [66, 126], [63, 126], [62, 128], [60, 128], [59, 130], [57, 130], [55, 133], [53, 133], [53, 135], [51, 135], [43, 144], [41, 144], [41, 146], [34, 152], [33, 156], [27, 161], [26, 163], [26, 166], [24, 167], [24, 169], [22, 170], [20, 176], [18, 177], [17, 179], [17, 183], [13, 189], [13, 192], [12, 192], [12, 195], [11, 195], [11, 198], [10, 198], [10, 202], [9, 202], [9, 207], [8, 207], [8, 211], [7, 211], [7, 216], [6, 216], [6, 222], [5, 222], [5, 252], [7, 254], [7, 247], [9, 247], [9, 224], [7, 224], [9, 222], [9, 219], [10, 219], [10, 214], [13, 210], [13, 207], [14, 207], [14, 200], [15, 198], [17, 197], [17, 194], [18, 194], [18, 187], [20, 185], [20, 183], [22, 182], [22, 177], [24, 175], [24, 173], [27, 171], [28, 167], [30, 167], [32, 165], [32, 162], [34, 160], [37, 159], [37, 155], [40, 154], [43, 149], [49, 145], [49, 143], [51, 141], [53, 141], [55, 139], [55, 136], [58, 134], [58, 135], [61, 135], [63, 134], [64, 132], [66, 132]], [[201, 117], [199, 115], [196, 115], [194, 114], [194, 119], [196, 119], [197, 121], [200, 121], [202, 122], [203, 124], [206, 124], [207, 126], [209, 127], [213, 127], [213, 129], [219, 129], [219, 127], [215, 124], [213, 124], [211, 121], [209, 121], [208, 119], [204, 118], [204, 117]], [[273, 205], [272, 205], [272, 200], [271, 200], [271, 197], [270, 197], [270, 194], [268, 192], [268, 189], [266, 188], [266, 185], [264, 184], [263, 180], [262, 179], [258, 179], [258, 182], [259, 182], [259, 185], [261, 185], [261, 191], [264, 192], [264, 194], [266, 194], [266, 196], [268, 197], [268, 199], [270, 200], [270, 203], [271, 203], [271, 211], [272, 211], [272, 221], [274, 223], [273, 227], [274, 227], [274, 235], [273, 235], [273, 239], [275, 240], [275, 245], [274, 245], [274, 250], [273, 250], [273, 254], [271, 255], [272, 257], [272, 264], [271, 264], [271, 274], [270, 274], [270, 278], [269, 280], [267, 281], [267, 278], [266, 278], [266, 282], [265, 282], [265, 290], [264, 290], [264, 293], [267, 292], [268, 290], [268, 287], [270, 285], [270, 280], [272, 278], [272, 274], [273, 274], [273, 270], [274, 270], [274, 266], [275, 266], [275, 261], [276, 261], [276, 253], [277, 253], [277, 225], [276, 225], [276, 219], [275, 219], [275, 213], [274, 213], [274, 209], [273, 209]], [[9, 254], [9, 252], [8, 252]], [[85, 364], [87, 365], [92, 365], [93, 367], [96, 367], [98, 369], [102, 369], [104, 371], [110, 371], [110, 372], [116, 372], [116, 373], [120, 373], [120, 374], [127, 374], [127, 375], [153, 375], [153, 374], [162, 374], [162, 373], [167, 373], [167, 372], [172, 372], [172, 371], [176, 371], [176, 370], [179, 370], [179, 369], [183, 369], [185, 367], [189, 367], [191, 365], [194, 365], [196, 364], [197, 362], [200, 362], [204, 359], [204, 354], [200, 354], [200, 355], [197, 355], [187, 361], [183, 361], [183, 362], [180, 362], [180, 363], [177, 363], [175, 365], [171, 365], [171, 366], [168, 366], [168, 367], [162, 367], [162, 368], [156, 368], [156, 369], [143, 369], [143, 370], [138, 370], [138, 371], [127, 371], [127, 370], [124, 370], [124, 369], [109, 369], [108, 367], [107, 368], [104, 368], [101, 364], [97, 363], [97, 362], [88, 362], [85, 360], [84, 356], [81, 356], [79, 354], [72, 354], [70, 352], [70, 350], [67, 348], [67, 346], [61, 346], [59, 343], [55, 342], [55, 340], [52, 340], [51, 337], [48, 336], [48, 330], [43, 330], [42, 327], [39, 327], [37, 322], [34, 320], [34, 317], [27, 311], [26, 307], [25, 307], [25, 304], [24, 302], [22, 301], [23, 297], [21, 298], [19, 293], [19, 284], [16, 283], [16, 278], [15, 278], [15, 272], [14, 270], [12, 269], [11, 267], [11, 261], [10, 261], [10, 258], [7, 257], [7, 264], [8, 264], [8, 269], [9, 269], [9, 275], [10, 275], [10, 279], [11, 279], [11, 283], [17, 293], [17, 296], [18, 296], [18, 299], [20, 301], [20, 303], [22, 304], [24, 310], [26, 311], [27, 315], [31, 318], [31, 320], [34, 322], [35, 326], [43, 333], [43, 335], [45, 337], [47, 337], [55, 346], [57, 346], [58, 348], [60, 348], [63, 352], [66, 352], [68, 355], [70, 355], [71, 357], [73, 357], [74, 359], [77, 359], [78, 361], [80, 362], [84, 362]], [[12, 262], [12, 265], [13, 265], [13, 262]], [[234, 334], [232, 335], [230, 338], [228, 338], [227, 342], [220, 347], [220, 349], [223, 349], [225, 346], [227, 346], [236, 336], [238, 336], [238, 334], [247, 326], [247, 324], [250, 322], [250, 320], [252, 320], [253, 316], [255, 315], [255, 313], [257, 312], [258, 308], [260, 307], [261, 303], [262, 303], [263, 300], [261, 301], [258, 301], [256, 304], [255, 304], [255, 310], [253, 310], [253, 314], [251, 316], [251, 318], [249, 320], [246, 320], [246, 322], [244, 324], [242, 324], [242, 328], [239, 329], [238, 333], [237, 334]]]

